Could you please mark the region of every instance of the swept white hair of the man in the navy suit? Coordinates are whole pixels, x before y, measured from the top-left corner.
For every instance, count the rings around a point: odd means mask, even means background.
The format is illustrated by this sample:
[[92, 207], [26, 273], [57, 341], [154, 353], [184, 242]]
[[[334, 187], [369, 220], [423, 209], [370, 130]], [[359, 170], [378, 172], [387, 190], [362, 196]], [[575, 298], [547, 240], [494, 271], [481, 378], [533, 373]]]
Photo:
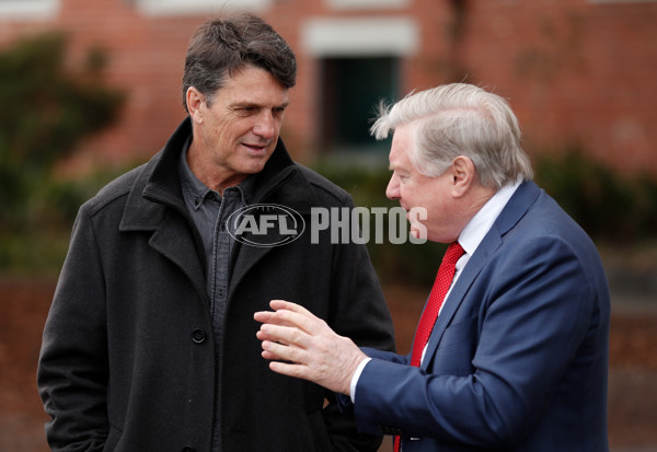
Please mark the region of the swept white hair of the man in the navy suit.
[[453, 159], [465, 155], [488, 188], [533, 178], [516, 115], [503, 97], [479, 86], [446, 84], [381, 104], [370, 132], [381, 140], [402, 125], [412, 127], [411, 161], [426, 176], [441, 175]]

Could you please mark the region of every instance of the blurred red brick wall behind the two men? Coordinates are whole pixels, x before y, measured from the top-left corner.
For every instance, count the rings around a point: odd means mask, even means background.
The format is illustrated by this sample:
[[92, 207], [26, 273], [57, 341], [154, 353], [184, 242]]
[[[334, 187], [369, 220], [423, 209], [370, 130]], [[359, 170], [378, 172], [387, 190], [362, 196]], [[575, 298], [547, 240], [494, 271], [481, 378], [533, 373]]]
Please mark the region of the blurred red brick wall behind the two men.
[[[311, 160], [318, 143], [318, 63], [300, 23], [325, 16], [412, 16], [420, 47], [403, 61], [402, 92], [468, 80], [509, 98], [530, 153], [580, 143], [624, 172], [657, 174], [657, 2], [411, 0], [403, 10], [330, 11], [280, 0], [262, 13], [296, 49], [299, 74], [284, 134]], [[462, 15], [454, 4], [465, 5]], [[61, 0], [53, 21], [0, 20], [0, 45], [38, 30], [71, 35], [71, 59], [110, 50], [107, 81], [126, 90], [122, 120], [83, 146], [79, 161], [143, 159], [184, 117], [180, 80], [187, 40], [206, 16], [143, 16], [125, 0]], [[290, 146], [291, 144], [291, 146]]]

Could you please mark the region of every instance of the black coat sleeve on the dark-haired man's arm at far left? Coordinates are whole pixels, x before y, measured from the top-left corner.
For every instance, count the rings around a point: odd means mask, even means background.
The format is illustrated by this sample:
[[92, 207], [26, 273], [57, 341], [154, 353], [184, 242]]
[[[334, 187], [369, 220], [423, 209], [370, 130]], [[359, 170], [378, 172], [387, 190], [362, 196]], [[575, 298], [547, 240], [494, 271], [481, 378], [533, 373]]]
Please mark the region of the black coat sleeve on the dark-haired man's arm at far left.
[[76, 219], [44, 328], [37, 384], [54, 451], [101, 451], [108, 434], [105, 291], [92, 222]]

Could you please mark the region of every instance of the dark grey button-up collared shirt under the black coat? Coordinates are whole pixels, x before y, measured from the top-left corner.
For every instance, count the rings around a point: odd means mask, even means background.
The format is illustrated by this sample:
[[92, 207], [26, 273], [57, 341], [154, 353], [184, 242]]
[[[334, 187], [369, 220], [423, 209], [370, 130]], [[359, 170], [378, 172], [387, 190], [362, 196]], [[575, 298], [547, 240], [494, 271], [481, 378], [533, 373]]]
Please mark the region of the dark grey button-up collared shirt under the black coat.
[[[210, 297], [210, 313], [217, 352], [220, 350], [219, 338], [226, 317], [228, 291], [230, 288], [231, 253], [234, 239], [228, 231], [227, 220], [238, 209], [251, 202], [253, 193], [253, 177], [250, 176], [235, 187], [223, 190], [223, 196], [208, 188], [189, 169], [187, 164], [187, 150], [191, 140], [185, 144], [178, 165], [181, 185], [185, 205], [200, 236], [206, 253], [207, 291]], [[221, 360], [216, 359], [217, 374]], [[218, 403], [219, 389], [216, 391]], [[218, 425], [218, 407], [215, 407], [215, 426], [212, 433], [212, 451], [221, 450], [221, 429]]]

